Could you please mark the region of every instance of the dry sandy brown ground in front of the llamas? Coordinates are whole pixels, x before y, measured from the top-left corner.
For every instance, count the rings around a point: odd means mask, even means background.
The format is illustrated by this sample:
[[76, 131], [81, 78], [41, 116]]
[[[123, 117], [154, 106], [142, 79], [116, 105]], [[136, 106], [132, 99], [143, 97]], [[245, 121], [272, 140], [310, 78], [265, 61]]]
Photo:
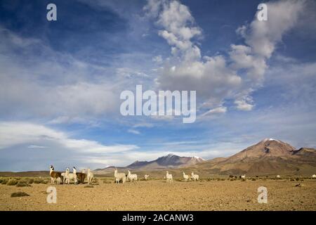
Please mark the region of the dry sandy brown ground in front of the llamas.
[[[302, 184], [302, 186], [296, 186]], [[316, 180], [138, 181], [137, 184], [53, 185], [57, 203], [46, 203], [50, 184], [0, 185], [0, 210], [316, 210]], [[268, 188], [259, 204], [257, 189]], [[11, 198], [24, 191], [25, 197]]]

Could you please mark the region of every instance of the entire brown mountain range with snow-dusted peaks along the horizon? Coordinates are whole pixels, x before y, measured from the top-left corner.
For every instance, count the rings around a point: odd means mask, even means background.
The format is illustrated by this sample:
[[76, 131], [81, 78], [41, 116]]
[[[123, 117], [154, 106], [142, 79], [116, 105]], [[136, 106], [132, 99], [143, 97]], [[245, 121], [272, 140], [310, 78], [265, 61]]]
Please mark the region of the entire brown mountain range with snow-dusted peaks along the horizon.
[[[127, 167], [133, 171], [157, 171], [169, 169], [174, 172], [197, 171], [201, 174], [315, 174], [315, 148], [296, 149], [289, 143], [276, 139], [263, 139], [228, 158], [203, 160], [198, 157], [165, 155], [153, 161], [136, 161]], [[112, 173], [114, 167], [96, 169], [96, 174]]]

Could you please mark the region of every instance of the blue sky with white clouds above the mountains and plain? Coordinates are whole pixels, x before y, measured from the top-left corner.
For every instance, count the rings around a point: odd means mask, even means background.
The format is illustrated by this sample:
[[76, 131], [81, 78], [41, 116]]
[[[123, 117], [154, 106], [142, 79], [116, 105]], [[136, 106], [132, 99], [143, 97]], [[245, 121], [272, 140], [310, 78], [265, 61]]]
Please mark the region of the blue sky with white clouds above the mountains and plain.
[[[0, 170], [207, 160], [265, 138], [316, 148], [315, 12], [312, 0], [1, 0]], [[197, 91], [196, 121], [121, 115], [138, 84]]]

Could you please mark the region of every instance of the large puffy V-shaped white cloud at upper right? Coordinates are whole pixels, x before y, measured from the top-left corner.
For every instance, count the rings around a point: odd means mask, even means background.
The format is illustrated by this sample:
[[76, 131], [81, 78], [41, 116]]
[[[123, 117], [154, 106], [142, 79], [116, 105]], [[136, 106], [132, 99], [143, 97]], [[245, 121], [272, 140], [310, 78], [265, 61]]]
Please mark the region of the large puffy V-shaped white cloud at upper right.
[[[275, 51], [282, 36], [296, 25], [303, 11], [303, 1], [268, 3], [268, 21], [256, 17], [237, 32], [245, 45], [231, 45], [225, 56], [201, 56], [194, 39], [202, 37], [189, 8], [179, 1], [148, 1], [144, 10], [155, 18], [159, 36], [171, 46], [172, 58], [158, 70], [157, 84], [163, 89], [196, 90], [203, 106], [221, 107], [233, 99], [238, 110], [252, 110], [252, 92], [264, 81], [267, 59]], [[246, 76], [244, 76], [244, 71]], [[211, 109], [210, 109], [211, 108]]]

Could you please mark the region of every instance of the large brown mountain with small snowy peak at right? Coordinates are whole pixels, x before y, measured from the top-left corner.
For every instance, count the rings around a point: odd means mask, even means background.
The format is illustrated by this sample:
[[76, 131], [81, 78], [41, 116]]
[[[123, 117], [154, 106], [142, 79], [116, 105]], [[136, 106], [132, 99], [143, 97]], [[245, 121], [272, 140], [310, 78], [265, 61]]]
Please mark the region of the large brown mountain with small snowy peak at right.
[[315, 174], [316, 150], [300, 148], [275, 139], [264, 139], [229, 158], [197, 165], [214, 174]]

